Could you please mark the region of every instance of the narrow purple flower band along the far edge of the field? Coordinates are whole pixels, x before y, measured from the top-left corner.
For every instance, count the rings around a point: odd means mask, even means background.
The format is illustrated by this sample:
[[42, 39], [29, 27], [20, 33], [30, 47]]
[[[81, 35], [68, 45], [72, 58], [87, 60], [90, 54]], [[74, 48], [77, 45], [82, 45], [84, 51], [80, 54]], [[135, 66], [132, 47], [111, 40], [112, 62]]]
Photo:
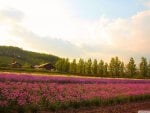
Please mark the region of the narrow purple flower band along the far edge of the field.
[[110, 83], [142, 83], [150, 84], [150, 80], [146, 79], [114, 79], [114, 78], [85, 78], [85, 77], [61, 77], [61, 76], [36, 76], [30, 74], [1, 74], [0, 81], [12, 82], [48, 82], [48, 83], [80, 83], [80, 84], [110, 84]]

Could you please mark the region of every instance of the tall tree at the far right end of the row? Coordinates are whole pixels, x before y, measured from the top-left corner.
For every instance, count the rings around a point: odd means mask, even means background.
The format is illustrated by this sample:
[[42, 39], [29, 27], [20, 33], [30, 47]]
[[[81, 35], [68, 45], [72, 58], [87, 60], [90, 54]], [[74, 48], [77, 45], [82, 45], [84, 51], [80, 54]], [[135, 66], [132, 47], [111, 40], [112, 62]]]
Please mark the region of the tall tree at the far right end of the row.
[[140, 62], [140, 74], [143, 77], [146, 77], [148, 73], [148, 65], [147, 65], [147, 59], [142, 57]]

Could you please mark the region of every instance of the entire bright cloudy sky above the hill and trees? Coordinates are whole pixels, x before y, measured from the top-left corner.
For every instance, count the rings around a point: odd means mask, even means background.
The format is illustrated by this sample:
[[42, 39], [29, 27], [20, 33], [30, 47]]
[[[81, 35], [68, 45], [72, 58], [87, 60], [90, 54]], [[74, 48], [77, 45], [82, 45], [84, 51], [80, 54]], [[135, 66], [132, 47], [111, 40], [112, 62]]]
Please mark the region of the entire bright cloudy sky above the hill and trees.
[[60, 57], [150, 59], [150, 0], [0, 0], [0, 45]]

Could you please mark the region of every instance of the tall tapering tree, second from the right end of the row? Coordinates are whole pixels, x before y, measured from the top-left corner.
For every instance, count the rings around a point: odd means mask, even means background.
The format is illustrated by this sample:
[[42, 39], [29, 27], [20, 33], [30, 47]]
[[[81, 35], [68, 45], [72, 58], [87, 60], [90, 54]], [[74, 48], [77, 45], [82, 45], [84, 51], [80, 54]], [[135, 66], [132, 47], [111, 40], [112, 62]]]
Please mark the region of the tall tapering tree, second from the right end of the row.
[[136, 74], [136, 64], [133, 57], [130, 58], [129, 63], [127, 64], [127, 74], [130, 77], [133, 77]]

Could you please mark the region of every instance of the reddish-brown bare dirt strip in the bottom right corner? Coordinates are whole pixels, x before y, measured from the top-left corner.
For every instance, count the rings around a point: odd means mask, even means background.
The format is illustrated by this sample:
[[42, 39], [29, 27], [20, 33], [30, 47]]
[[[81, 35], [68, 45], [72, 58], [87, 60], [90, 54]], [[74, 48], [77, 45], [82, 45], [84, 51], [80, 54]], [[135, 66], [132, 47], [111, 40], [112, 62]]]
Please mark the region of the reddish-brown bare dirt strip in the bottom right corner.
[[147, 110], [150, 113], [150, 101], [117, 104], [105, 107], [90, 107], [80, 109], [68, 109], [58, 112], [42, 113], [138, 113], [139, 110]]

